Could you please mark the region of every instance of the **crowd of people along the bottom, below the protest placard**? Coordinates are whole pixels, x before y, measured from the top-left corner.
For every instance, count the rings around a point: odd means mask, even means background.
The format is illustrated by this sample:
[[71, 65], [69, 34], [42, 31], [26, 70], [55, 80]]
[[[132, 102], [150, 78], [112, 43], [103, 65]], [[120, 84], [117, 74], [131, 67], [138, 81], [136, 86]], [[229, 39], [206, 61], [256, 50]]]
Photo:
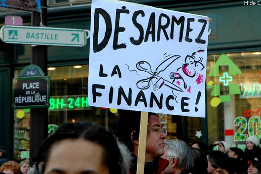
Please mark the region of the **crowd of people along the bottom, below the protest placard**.
[[[225, 141], [191, 146], [167, 139], [155, 113], [148, 115], [147, 137], [140, 136], [141, 112], [118, 110], [117, 138], [91, 122], [64, 123], [40, 146], [34, 167], [29, 160], [5, 159], [0, 146], [0, 172], [5, 174], [137, 174], [139, 144], [146, 138], [144, 174], [261, 174], [261, 147], [249, 136], [246, 149]], [[218, 150], [213, 150], [218, 146]]]

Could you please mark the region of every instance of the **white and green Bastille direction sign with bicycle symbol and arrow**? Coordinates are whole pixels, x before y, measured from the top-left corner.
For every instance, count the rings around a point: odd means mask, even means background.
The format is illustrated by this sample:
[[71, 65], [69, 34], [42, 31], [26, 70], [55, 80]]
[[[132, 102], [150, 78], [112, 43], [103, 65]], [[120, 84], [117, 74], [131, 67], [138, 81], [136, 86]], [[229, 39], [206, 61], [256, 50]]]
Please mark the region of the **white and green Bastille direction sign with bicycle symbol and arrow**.
[[10, 44], [84, 46], [86, 33], [81, 29], [4, 25], [0, 38]]

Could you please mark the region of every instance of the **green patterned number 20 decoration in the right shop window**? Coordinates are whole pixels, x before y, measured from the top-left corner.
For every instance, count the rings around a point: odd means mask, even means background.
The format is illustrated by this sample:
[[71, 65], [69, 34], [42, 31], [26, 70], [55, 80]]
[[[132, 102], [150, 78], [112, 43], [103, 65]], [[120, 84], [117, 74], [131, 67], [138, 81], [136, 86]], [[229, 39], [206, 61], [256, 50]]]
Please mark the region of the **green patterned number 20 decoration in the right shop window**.
[[[234, 126], [240, 126], [234, 135], [234, 141], [246, 141], [248, 136], [253, 135], [258, 139], [261, 138], [261, 120], [257, 116], [250, 117], [248, 121], [245, 117], [237, 117]], [[246, 130], [248, 134], [244, 133]]]

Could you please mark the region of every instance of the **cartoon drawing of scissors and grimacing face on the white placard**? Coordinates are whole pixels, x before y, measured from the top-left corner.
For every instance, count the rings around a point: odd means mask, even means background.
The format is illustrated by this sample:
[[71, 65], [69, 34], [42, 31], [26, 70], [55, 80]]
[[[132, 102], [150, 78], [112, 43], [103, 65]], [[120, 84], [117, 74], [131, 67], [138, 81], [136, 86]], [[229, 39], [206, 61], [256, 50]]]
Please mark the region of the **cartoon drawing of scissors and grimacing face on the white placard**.
[[[179, 61], [177, 62], [180, 62], [180, 60], [182, 59], [180, 55], [166, 55], [165, 53], [164, 55], [166, 56], [164, 57], [164, 61], [162, 61], [154, 71], [152, 71], [149, 62], [144, 60], [139, 61], [136, 64], [138, 72], [146, 72], [149, 74], [149, 77], [139, 80], [136, 83], [136, 86], [139, 89], [146, 90], [149, 89], [152, 85], [152, 89], [154, 91], [159, 90], [163, 86], [169, 87], [174, 96], [176, 97], [177, 101], [177, 96], [179, 95], [179, 92], [191, 92], [192, 87], [187, 86], [186, 83], [191, 82], [192, 78], [194, 79], [194, 77], [196, 76], [195, 85], [198, 85], [203, 82], [203, 75], [200, 74], [200, 71], [202, 71], [205, 68], [205, 66], [202, 63], [203, 58], [200, 57], [200, 53], [204, 52], [205, 50], [200, 49], [197, 52], [193, 52], [191, 55], [187, 55], [184, 59], [185, 63], [182, 65], [175, 64], [178, 59]], [[173, 67], [179, 68], [177, 68], [176, 71], [173, 71]], [[138, 72], [136, 71], [137, 75]], [[162, 72], [169, 74], [169, 77], [163, 76], [161, 74]]]

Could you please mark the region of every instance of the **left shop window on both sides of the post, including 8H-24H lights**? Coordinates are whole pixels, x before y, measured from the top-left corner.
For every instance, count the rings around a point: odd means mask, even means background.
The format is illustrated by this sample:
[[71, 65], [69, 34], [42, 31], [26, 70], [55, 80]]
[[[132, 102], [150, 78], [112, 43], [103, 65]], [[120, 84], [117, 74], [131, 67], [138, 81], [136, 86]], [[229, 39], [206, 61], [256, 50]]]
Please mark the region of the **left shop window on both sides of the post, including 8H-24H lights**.
[[[15, 70], [17, 78], [21, 70]], [[117, 112], [107, 108], [88, 106], [88, 65], [49, 67], [50, 107], [48, 108], [48, 135], [65, 122], [91, 121], [116, 134]], [[14, 110], [14, 156], [29, 158], [30, 109]]]

